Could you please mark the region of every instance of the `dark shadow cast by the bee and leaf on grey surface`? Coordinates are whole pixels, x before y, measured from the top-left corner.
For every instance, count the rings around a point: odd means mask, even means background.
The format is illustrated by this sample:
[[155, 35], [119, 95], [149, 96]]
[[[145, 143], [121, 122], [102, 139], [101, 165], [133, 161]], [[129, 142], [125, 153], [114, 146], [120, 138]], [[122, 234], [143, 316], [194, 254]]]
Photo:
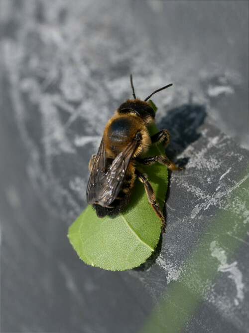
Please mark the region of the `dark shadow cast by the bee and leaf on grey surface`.
[[[197, 129], [199, 126], [202, 125], [206, 116], [207, 113], [203, 105], [186, 104], [182, 105], [179, 108], [170, 110], [167, 115], [162, 118], [160, 124], [158, 124], [158, 128], [165, 128], [170, 132], [171, 141], [169, 143], [169, 146], [166, 148], [165, 153], [171, 161], [175, 162], [179, 166], [185, 166], [188, 163], [188, 157], [178, 160], [176, 160], [176, 157], [177, 155], [181, 154], [190, 144], [192, 144], [201, 137], [201, 134], [198, 133]], [[165, 202], [170, 196], [170, 177], [171, 172], [169, 172], [168, 176], [169, 184]], [[165, 212], [165, 215], [167, 215], [166, 213], [167, 212]], [[155, 263], [156, 258], [159, 256], [161, 252], [161, 247], [162, 234], [160, 235], [155, 251], [145, 261], [145, 263], [143, 263], [139, 267], [134, 268], [134, 270], [148, 270]]]

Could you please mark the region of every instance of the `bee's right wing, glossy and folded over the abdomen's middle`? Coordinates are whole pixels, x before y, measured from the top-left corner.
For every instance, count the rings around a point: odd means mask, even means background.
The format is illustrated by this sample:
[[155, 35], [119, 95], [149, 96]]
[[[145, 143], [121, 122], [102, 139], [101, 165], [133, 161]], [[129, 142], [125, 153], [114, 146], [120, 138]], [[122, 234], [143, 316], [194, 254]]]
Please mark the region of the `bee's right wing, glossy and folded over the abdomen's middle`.
[[124, 183], [127, 167], [139, 143], [140, 140], [134, 138], [114, 159], [106, 173], [106, 188], [98, 199], [100, 205], [108, 207], [117, 198]]

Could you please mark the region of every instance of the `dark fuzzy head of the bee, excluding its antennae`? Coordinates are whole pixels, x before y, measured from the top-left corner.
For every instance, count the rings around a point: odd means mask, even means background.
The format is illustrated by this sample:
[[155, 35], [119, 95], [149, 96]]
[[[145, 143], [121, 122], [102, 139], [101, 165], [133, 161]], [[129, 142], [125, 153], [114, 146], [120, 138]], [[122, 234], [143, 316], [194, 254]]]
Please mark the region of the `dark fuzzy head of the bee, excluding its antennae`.
[[121, 104], [117, 113], [120, 115], [134, 114], [142, 118], [146, 124], [153, 122], [155, 118], [155, 111], [149, 103], [139, 99], [127, 99], [123, 104]]

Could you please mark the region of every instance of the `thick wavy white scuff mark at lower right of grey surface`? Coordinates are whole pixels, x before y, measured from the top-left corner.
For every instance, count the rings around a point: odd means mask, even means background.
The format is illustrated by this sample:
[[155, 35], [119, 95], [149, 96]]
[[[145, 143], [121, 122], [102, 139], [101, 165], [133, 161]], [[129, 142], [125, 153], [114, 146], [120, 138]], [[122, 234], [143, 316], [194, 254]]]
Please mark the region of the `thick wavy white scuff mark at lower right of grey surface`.
[[237, 261], [234, 261], [232, 264], [228, 264], [225, 251], [218, 246], [218, 243], [216, 241], [213, 241], [211, 243], [210, 250], [212, 251], [212, 257], [217, 258], [221, 263], [218, 267], [218, 272], [230, 272], [230, 275], [228, 277], [234, 281], [237, 289], [237, 297], [234, 299], [234, 303], [236, 306], [238, 306], [239, 302], [242, 302], [244, 300], [243, 289], [245, 285], [242, 282], [243, 276], [241, 271], [237, 267]]

